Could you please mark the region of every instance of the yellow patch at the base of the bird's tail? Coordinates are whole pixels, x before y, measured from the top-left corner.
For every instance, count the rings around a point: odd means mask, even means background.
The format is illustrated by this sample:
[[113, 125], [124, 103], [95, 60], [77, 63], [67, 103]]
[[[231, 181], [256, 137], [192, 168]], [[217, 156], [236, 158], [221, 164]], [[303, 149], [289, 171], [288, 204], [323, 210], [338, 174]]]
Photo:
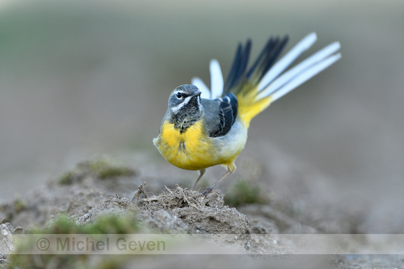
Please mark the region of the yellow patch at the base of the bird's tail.
[[238, 99], [238, 115], [247, 129], [252, 118], [261, 113], [272, 102], [271, 96], [257, 100], [257, 93], [258, 88], [256, 85], [246, 84], [236, 95]]

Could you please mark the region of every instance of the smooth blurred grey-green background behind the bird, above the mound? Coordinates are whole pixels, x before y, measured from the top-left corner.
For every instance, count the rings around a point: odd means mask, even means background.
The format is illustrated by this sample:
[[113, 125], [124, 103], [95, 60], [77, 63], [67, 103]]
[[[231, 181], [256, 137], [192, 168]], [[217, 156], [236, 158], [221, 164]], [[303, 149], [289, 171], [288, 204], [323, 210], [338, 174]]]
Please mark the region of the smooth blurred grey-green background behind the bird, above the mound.
[[276, 147], [403, 209], [403, 25], [401, 0], [0, 0], [0, 201], [94, 154], [170, 166], [151, 141], [171, 90], [209, 83], [211, 58], [226, 75], [247, 38], [254, 58], [270, 35], [290, 49], [316, 31], [304, 57], [339, 40], [343, 58], [258, 115], [242, 154]]

